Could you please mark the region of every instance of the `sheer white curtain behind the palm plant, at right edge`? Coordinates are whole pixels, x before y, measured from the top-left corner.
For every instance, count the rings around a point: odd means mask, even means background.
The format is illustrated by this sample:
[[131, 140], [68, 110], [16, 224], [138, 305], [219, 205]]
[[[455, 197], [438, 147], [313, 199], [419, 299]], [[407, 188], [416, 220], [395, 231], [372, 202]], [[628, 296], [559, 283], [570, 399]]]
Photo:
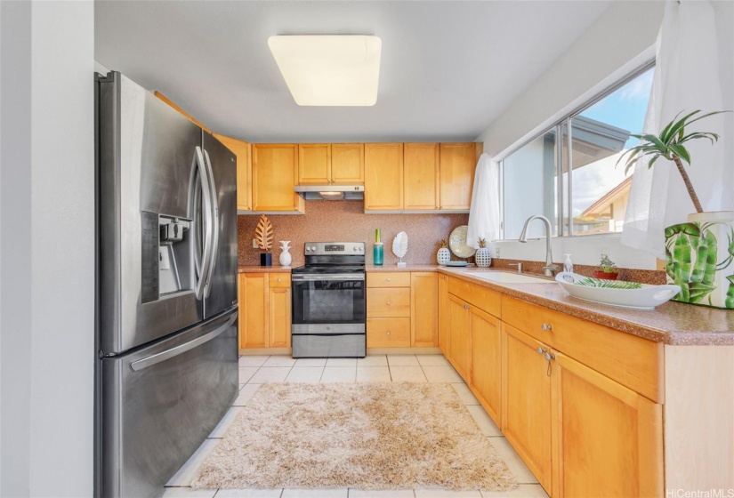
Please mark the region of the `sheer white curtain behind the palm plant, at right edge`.
[[[682, 111], [734, 110], [732, 26], [732, 2], [666, 2], [645, 133], [659, 133]], [[707, 117], [687, 131], [721, 136], [714, 146], [689, 142], [691, 165], [686, 168], [705, 211], [734, 210], [734, 114]], [[634, 170], [622, 244], [665, 258], [665, 227], [685, 222], [695, 211], [672, 162], [659, 159], [648, 169], [641, 160]]]

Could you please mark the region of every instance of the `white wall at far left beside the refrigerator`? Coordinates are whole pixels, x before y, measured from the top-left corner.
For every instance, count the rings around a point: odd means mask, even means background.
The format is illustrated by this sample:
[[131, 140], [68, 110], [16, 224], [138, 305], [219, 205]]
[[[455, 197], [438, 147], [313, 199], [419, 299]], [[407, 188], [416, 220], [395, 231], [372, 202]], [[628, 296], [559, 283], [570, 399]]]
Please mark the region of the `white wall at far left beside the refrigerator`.
[[0, 495], [91, 496], [93, 3], [1, 5]]

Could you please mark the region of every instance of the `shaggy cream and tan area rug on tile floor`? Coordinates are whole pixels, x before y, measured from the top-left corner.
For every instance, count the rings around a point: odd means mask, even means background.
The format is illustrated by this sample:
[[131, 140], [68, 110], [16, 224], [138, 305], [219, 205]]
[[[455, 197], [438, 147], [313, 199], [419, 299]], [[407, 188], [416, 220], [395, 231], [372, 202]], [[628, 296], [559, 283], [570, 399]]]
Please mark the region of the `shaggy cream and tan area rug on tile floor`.
[[195, 488], [504, 491], [516, 485], [450, 384], [264, 384]]

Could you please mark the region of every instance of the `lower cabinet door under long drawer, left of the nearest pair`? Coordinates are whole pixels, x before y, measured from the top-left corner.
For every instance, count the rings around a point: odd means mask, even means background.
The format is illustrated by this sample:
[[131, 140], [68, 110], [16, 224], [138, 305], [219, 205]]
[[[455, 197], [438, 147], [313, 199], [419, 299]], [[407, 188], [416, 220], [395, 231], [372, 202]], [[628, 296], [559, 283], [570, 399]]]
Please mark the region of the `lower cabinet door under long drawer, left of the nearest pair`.
[[502, 432], [547, 493], [551, 493], [551, 377], [548, 349], [511, 325], [502, 334]]

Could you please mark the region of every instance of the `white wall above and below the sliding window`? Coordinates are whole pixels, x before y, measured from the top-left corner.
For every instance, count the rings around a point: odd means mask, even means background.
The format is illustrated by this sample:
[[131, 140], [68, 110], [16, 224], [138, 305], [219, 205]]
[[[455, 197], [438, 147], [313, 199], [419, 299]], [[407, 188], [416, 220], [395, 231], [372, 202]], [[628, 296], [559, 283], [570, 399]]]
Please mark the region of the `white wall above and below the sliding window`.
[[[663, 2], [617, 2], [580, 36], [567, 52], [528, 90], [504, 110], [479, 137], [484, 151], [502, 157], [510, 149], [541, 133], [558, 119], [603, 91], [645, 60], [654, 57]], [[544, 261], [544, 242], [517, 241], [490, 244], [501, 257]], [[573, 253], [580, 264], [597, 264], [601, 249], [625, 268], [655, 269], [652, 256], [623, 247], [619, 236], [559, 238], [553, 241], [555, 261]], [[615, 258], [617, 258], [615, 260]]]

